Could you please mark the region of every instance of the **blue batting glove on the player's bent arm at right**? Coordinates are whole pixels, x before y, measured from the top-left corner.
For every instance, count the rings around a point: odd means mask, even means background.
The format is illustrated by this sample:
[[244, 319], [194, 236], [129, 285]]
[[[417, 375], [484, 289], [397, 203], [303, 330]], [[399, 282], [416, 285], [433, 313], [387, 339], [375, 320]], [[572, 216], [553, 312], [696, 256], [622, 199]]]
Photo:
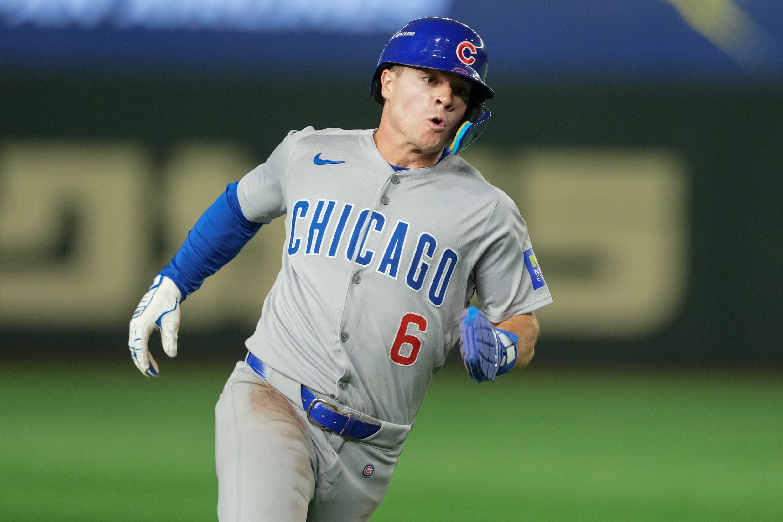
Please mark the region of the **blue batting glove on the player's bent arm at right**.
[[493, 328], [484, 312], [468, 306], [460, 318], [460, 352], [467, 373], [475, 382], [494, 381], [514, 368], [519, 338]]

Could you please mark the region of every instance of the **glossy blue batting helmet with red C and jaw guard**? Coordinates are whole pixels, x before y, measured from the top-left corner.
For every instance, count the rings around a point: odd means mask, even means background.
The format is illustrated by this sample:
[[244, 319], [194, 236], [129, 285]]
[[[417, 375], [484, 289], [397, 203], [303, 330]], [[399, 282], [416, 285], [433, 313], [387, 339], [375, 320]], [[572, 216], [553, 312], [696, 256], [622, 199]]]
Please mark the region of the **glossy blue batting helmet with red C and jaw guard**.
[[473, 89], [465, 118], [449, 146], [459, 154], [484, 131], [492, 113], [484, 100], [495, 92], [486, 85], [489, 60], [484, 41], [476, 31], [449, 18], [428, 16], [413, 20], [389, 40], [378, 60], [370, 83], [370, 96], [384, 104], [381, 95], [381, 73], [393, 65], [407, 65], [459, 74], [471, 80]]

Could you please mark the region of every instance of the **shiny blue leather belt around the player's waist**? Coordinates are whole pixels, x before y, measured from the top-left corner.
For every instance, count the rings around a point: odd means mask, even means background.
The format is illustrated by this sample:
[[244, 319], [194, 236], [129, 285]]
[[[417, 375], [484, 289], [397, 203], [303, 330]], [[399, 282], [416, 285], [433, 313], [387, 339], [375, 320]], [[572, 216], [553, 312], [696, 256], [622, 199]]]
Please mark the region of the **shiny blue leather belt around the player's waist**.
[[[261, 359], [248, 352], [245, 361], [250, 364], [254, 372], [266, 379], [268, 368]], [[332, 431], [343, 437], [363, 439], [381, 429], [380, 424], [360, 421], [352, 413], [343, 413], [337, 410], [327, 401], [316, 397], [305, 386], [301, 386], [301, 407], [307, 411], [307, 418], [310, 422], [322, 430]]]

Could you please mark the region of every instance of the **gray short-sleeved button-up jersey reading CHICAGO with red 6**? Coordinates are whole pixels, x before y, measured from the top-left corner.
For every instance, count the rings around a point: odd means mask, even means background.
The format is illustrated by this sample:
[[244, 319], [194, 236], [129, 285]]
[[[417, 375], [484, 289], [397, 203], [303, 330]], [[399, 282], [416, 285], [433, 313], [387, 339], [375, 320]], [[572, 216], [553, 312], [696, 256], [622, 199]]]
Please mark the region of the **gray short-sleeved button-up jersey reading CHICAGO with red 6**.
[[552, 302], [511, 198], [450, 154], [395, 172], [373, 130], [292, 131], [239, 183], [286, 214], [283, 267], [247, 348], [367, 415], [410, 424], [474, 292], [495, 323]]

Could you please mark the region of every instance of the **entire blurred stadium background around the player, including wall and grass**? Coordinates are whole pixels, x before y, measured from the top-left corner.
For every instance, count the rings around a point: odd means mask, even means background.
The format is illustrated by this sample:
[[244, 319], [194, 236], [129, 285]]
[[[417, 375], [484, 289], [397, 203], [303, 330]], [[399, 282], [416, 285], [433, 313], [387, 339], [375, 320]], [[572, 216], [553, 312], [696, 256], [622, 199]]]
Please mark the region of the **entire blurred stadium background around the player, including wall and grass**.
[[525, 372], [435, 377], [373, 520], [783, 520], [783, 3], [0, 0], [2, 520], [215, 520], [212, 408], [282, 222], [157, 381], [128, 318], [286, 132], [375, 127], [377, 56], [431, 15], [487, 42], [464, 155], [555, 303]]

